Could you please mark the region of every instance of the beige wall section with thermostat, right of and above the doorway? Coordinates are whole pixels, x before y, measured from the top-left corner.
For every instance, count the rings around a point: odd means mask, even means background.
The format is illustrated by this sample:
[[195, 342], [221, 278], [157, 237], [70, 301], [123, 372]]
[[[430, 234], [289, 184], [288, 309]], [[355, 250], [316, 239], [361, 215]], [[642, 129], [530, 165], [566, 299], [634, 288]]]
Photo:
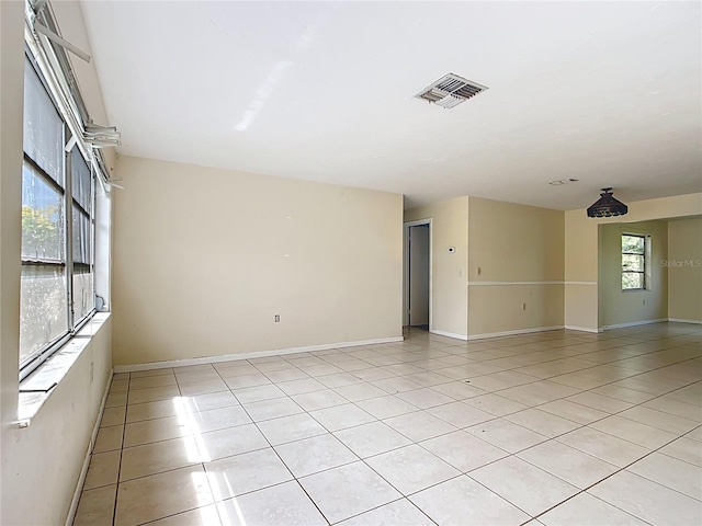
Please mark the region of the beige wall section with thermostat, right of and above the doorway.
[[[430, 330], [468, 335], [468, 198], [445, 201], [405, 211], [405, 221], [431, 219]], [[449, 252], [454, 247], [455, 252]]]

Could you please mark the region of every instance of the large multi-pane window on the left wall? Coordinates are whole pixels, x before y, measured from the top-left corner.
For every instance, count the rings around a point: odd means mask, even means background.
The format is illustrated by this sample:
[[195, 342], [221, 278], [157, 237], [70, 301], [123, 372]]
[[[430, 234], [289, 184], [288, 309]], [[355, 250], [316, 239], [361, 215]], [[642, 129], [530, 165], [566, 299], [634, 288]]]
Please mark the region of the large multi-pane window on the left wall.
[[21, 377], [94, 311], [94, 173], [29, 56], [23, 142]]

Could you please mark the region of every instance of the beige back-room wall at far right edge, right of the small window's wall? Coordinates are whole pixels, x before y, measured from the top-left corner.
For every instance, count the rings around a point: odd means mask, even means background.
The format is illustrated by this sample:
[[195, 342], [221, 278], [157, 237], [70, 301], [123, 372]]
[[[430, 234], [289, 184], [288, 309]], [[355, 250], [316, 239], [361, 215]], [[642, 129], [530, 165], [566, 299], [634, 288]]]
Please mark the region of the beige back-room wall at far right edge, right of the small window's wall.
[[668, 222], [668, 317], [702, 323], [702, 218]]

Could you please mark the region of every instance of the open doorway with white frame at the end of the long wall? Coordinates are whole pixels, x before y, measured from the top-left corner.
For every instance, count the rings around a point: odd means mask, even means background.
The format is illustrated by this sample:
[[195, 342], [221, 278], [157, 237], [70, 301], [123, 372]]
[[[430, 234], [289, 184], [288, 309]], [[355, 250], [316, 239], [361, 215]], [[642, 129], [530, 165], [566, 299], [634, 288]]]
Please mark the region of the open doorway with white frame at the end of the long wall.
[[431, 329], [431, 219], [405, 224], [404, 324]]

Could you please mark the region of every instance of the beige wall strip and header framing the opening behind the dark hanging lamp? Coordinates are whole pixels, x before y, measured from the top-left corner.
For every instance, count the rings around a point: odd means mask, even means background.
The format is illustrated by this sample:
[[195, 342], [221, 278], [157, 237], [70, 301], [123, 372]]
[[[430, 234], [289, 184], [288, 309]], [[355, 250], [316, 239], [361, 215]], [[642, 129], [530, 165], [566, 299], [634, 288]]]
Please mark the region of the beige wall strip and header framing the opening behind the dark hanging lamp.
[[678, 195], [627, 203], [623, 217], [590, 218], [585, 208], [565, 213], [565, 324], [567, 328], [598, 331], [599, 225], [637, 222], [702, 214], [702, 194]]

